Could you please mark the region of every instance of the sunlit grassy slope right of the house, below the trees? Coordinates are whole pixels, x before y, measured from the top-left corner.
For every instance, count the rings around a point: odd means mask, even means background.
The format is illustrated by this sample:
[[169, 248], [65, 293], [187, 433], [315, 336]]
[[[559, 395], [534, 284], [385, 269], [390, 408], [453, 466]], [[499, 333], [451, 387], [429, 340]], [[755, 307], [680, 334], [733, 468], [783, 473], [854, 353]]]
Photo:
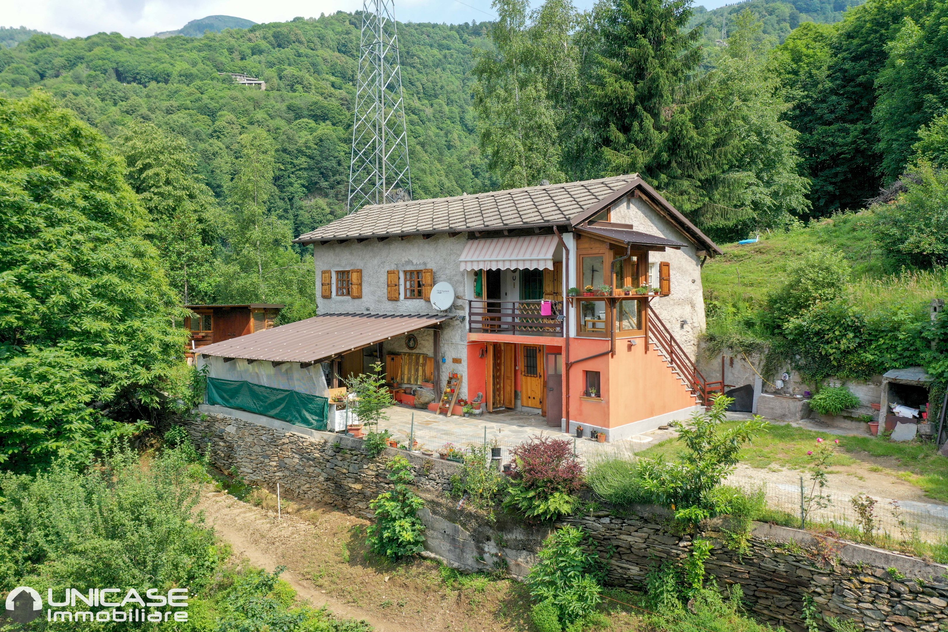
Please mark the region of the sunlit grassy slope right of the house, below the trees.
[[866, 227], [866, 214], [847, 213], [789, 232], [764, 233], [757, 244], [722, 244], [723, 256], [702, 270], [708, 298], [755, 301], [778, 287], [796, 257], [817, 247], [842, 250], [854, 277], [880, 277], [882, 259]]

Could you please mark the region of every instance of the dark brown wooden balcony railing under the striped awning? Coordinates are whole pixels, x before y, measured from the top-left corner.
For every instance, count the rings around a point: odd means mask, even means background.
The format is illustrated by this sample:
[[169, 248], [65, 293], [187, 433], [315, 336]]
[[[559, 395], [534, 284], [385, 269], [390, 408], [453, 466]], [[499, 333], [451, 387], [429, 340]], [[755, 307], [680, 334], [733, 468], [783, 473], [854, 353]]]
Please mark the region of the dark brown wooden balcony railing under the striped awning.
[[[541, 314], [550, 303], [550, 316]], [[470, 301], [467, 331], [471, 334], [563, 335], [563, 303], [560, 300]]]

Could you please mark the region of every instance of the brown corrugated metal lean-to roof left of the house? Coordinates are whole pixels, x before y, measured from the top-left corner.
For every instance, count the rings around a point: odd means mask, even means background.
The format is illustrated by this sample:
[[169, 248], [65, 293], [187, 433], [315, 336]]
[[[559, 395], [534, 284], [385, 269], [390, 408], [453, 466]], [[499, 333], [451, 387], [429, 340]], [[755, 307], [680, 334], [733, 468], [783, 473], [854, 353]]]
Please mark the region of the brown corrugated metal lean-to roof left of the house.
[[439, 324], [453, 316], [329, 314], [200, 347], [198, 353], [270, 362], [320, 362]]

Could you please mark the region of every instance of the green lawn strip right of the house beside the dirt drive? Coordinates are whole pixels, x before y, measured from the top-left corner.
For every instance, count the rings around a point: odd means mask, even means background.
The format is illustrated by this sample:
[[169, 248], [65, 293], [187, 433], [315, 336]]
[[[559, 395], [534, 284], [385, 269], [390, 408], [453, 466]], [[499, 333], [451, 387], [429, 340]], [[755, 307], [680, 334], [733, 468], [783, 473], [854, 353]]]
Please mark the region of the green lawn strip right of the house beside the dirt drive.
[[[725, 424], [733, 425], [736, 423]], [[919, 486], [928, 497], [948, 502], [948, 459], [940, 456], [932, 443], [890, 442], [876, 437], [837, 437], [790, 424], [771, 424], [767, 431], [740, 451], [740, 461], [751, 467], [780, 466], [791, 469], [809, 464], [807, 450], [816, 439], [839, 439], [840, 450], [830, 465], [864, 466], [872, 472], [891, 470], [900, 479]], [[673, 459], [684, 450], [669, 439], [638, 453], [640, 457], [664, 455]]]

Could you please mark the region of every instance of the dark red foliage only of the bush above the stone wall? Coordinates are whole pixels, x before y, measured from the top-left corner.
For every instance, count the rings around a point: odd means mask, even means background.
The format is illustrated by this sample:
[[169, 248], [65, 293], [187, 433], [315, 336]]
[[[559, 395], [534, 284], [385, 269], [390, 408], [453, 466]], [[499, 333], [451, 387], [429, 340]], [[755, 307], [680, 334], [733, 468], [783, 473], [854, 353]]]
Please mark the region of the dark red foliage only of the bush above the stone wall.
[[527, 489], [575, 494], [583, 483], [583, 466], [573, 458], [573, 447], [565, 439], [533, 437], [513, 449], [511, 479]]

